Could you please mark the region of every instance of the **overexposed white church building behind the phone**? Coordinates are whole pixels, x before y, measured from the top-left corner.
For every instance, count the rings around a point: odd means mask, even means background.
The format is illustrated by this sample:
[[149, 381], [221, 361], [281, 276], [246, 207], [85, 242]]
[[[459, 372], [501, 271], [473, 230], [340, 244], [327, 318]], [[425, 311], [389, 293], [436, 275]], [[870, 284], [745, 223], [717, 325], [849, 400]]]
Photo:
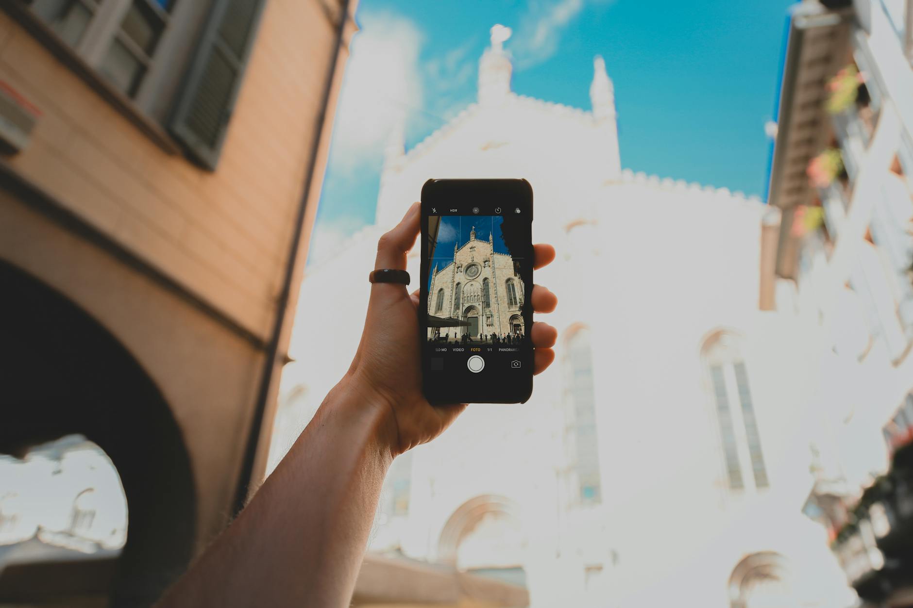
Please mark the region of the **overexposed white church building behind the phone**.
[[535, 274], [560, 299], [556, 362], [529, 403], [471, 405], [394, 463], [370, 549], [526, 585], [533, 606], [849, 605], [802, 513], [812, 342], [760, 306], [779, 213], [622, 170], [603, 60], [577, 110], [511, 91], [502, 40], [477, 103], [409, 152], [392, 140], [377, 224], [308, 270], [272, 465], [348, 369], [377, 237], [425, 180], [525, 177], [534, 241], [558, 251]]

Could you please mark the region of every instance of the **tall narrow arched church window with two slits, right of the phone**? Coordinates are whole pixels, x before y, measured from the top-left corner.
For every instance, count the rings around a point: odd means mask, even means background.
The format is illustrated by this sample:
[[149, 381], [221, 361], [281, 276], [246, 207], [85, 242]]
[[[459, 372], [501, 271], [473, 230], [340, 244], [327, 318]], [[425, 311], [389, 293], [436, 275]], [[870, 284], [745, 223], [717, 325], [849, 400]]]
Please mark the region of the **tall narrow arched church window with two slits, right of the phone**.
[[729, 488], [745, 487], [745, 468], [750, 468], [755, 487], [767, 487], [761, 434], [751, 399], [748, 368], [740, 352], [740, 338], [719, 332], [704, 343], [701, 352], [717, 414]]

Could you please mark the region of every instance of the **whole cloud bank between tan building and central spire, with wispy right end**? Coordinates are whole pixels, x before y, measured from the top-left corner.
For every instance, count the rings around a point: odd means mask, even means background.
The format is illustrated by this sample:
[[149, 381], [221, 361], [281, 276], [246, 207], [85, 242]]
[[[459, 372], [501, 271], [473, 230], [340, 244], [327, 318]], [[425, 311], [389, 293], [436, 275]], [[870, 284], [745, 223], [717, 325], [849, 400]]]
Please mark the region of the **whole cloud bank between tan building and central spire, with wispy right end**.
[[[337, 209], [332, 219], [319, 218], [315, 225], [309, 265], [339, 252], [349, 236], [371, 222], [374, 201], [355, 204], [344, 197], [372, 190], [366, 183], [372, 183], [381, 169], [383, 148], [394, 125], [425, 121], [426, 128], [436, 129], [443, 123], [442, 113], [449, 119], [471, 101], [457, 103], [456, 96], [476, 74], [477, 58], [471, 56], [478, 37], [420, 63], [425, 39], [413, 21], [370, 12], [359, 13], [359, 20], [361, 30], [352, 41], [346, 66], [321, 200]], [[430, 108], [425, 107], [423, 90], [429, 91]]]

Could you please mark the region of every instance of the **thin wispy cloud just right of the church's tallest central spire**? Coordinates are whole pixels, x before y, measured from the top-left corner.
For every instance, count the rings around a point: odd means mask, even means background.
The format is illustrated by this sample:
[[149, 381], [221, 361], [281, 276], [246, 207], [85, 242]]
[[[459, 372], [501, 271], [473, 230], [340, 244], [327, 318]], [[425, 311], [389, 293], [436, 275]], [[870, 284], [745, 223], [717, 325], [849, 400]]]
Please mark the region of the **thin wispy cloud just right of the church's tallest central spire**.
[[518, 69], [530, 68], [551, 58], [558, 50], [564, 29], [583, 9], [583, 0], [531, 2], [520, 17], [519, 27], [508, 46]]

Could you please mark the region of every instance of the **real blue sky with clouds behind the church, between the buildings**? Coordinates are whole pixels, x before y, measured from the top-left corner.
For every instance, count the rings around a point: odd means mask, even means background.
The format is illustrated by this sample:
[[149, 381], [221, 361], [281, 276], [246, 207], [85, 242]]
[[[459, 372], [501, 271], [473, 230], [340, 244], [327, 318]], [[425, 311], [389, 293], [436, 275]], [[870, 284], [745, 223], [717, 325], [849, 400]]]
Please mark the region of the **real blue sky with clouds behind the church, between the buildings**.
[[[310, 262], [372, 224], [383, 145], [412, 147], [476, 97], [488, 29], [509, 26], [512, 89], [589, 110], [614, 80], [622, 165], [763, 195], [791, 0], [361, 0]], [[417, 197], [417, 193], [416, 193]]]

